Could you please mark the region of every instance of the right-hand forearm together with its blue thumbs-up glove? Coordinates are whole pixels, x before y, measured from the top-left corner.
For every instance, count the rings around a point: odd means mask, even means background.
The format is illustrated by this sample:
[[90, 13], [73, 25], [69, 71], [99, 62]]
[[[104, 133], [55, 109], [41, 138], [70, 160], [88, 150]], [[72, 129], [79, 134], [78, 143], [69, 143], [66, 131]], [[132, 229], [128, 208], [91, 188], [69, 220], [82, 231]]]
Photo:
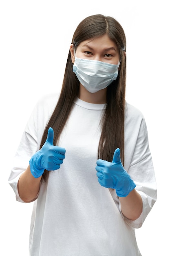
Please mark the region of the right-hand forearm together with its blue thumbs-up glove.
[[119, 148], [115, 150], [112, 162], [98, 159], [96, 171], [99, 184], [116, 190], [124, 216], [137, 220], [142, 213], [143, 202], [135, 190], [136, 184], [121, 164]]

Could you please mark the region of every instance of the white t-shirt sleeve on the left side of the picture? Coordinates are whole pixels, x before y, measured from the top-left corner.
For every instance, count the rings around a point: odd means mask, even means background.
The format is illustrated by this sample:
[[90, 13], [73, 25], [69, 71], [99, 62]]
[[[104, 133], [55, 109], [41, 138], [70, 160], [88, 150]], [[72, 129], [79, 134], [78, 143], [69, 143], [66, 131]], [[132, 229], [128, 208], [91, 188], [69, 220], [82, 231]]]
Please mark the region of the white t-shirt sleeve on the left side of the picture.
[[47, 99], [42, 97], [35, 105], [22, 134], [20, 144], [13, 158], [13, 168], [8, 180], [15, 192], [17, 201], [23, 202], [18, 195], [18, 180], [28, 167], [32, 155], [40, 148], [44, 128], [49, 121], [55, 104], [55, 97], [48, 97]]

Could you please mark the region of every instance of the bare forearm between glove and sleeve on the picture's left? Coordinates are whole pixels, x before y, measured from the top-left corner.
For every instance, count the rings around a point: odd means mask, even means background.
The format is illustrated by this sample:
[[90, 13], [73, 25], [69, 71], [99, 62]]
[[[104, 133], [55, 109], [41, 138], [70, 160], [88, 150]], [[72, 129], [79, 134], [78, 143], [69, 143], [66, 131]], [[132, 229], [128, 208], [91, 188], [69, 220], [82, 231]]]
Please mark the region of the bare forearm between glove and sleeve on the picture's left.
[[41, 177], [35, 178], [31, 174], [30, 166], [22, 173], [18, 181], [18, 193], [20, 198], [26, 202], [32, 202], [37, 198]]

